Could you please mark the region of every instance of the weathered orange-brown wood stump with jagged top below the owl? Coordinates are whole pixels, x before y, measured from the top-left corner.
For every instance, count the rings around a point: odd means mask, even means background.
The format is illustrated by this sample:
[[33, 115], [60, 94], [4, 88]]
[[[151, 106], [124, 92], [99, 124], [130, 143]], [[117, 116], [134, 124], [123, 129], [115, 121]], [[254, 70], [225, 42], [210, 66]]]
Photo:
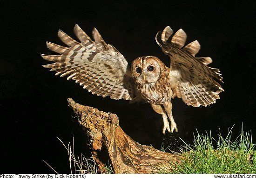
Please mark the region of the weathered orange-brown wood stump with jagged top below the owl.
[[100, 170], [104, 170], [101, 156], [108, 158], [115, 173], [157, 173], [159, 168], [171, 171], [170, 161], [181, 161], [179, 154], [165, 153], [134, 141], [119, 126], [117, 115], [83, 106], [71, 98], [67, 101], [88, 135], [89, 147]]

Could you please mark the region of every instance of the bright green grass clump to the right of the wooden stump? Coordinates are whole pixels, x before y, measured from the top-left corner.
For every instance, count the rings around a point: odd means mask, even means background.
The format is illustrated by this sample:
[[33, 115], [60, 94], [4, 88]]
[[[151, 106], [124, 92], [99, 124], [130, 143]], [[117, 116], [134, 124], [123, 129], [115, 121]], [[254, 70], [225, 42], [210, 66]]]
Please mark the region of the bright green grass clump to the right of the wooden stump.
[[219, 133], [219, 139], [215, 140], [211, 133], [200, 135], [197, 132], [194, 145], [184, 142], [181, 153], [184, 160], [180, 164], [170, 161], [174, 170], [160, 169], [159, 173], [256, 173], [256, 151], [251, 133], [244, 133], [242, 129], [234, 141], [231, 134], [232, 128], [225, 138]]

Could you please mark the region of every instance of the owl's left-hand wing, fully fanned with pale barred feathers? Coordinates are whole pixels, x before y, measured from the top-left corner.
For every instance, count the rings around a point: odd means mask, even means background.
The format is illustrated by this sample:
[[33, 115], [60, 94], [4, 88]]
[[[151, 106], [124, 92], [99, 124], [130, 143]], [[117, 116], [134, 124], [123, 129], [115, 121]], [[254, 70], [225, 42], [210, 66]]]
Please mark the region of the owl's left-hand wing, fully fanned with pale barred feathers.
[[54, 64], [42, 65], [56, 71], [56, 75], [75, 80], [89, 92], [111, 99], [131, 100], [135, 96], [135, 83], [128, 68], [128, 62], [114, 46], [106, 44], [94, 28], [94, 41], [78, 26], [74, 33], [77, 42], [61, 30], [58, 36], [66, 45], [47, 42], [47, 47], [61, 55], [44, 55], [42, 58]]

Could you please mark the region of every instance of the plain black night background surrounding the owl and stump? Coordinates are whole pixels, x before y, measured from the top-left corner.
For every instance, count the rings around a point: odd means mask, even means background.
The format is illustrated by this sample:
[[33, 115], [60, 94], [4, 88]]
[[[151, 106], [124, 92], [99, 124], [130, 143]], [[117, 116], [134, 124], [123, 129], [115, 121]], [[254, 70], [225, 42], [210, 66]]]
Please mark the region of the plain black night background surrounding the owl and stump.
[[[90, 153], [67, 108], [67, 97], [119, 116], [120, 126], [135, 141], [160, 148], [162, 142], [180, 145], [181, 137], [192, 143], [199, 133], [219, 128], [226, 134], [234, 126], [234, 137], [252, 130], [256, 137], [255, 65], [256, 6], [249, 1], [57, 1], [0, 0], [0, 173], [69, 173], [65, 144], [75, 136], [77, 155]], [[60, 28], [71, 37], [74, 24], [91, 36], [96, 27], [107, 43], [114, 45], [128, 63], [154, 55], [169, 65], [168, 57], [155, 43], [155, 34], [166, 26], [182, 28], [187, 42], [197, 39], [224, 77], [221, 99], [207, 108], [186, 106], [173, 100], [173, 115], [179, 134], [161, 134], [162, 116], [148, 104], [128, 104], [94, 96], [74, 81], [54, 76], [41, 67], [40, 53], [53, 54], [45, 42], [63, 45]], [[172, 148], [172, 147], [171, 147]], [[175, 149], [173, 147], [173, 149]]]

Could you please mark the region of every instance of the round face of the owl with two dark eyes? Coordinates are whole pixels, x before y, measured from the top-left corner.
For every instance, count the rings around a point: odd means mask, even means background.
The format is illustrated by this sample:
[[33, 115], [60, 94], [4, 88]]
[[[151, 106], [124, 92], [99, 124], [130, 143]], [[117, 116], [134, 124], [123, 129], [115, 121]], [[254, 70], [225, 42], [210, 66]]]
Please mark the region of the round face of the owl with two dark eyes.
[[131, 69], [136, 83], [155, 83], [162, 73], [162, 61], [154, 56], [139, 57], [132, 62]]

